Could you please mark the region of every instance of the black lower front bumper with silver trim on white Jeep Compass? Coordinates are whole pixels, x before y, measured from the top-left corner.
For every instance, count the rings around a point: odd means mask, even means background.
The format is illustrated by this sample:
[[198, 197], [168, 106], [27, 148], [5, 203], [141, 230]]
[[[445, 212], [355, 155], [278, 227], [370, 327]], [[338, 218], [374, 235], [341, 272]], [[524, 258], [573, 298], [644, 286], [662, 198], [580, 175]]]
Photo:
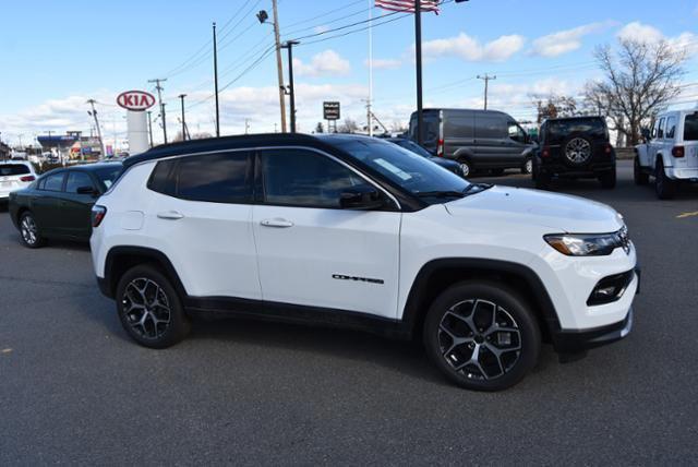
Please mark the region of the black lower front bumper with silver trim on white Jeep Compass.
[[578, 354], [583, 350], [601, 347], [621, 340], [633, 328], [633, 309], [628, 310], [625, 320], [606, 326], [583, 331], [558, 331], [553, 333], [553, 348], [558, 354]]

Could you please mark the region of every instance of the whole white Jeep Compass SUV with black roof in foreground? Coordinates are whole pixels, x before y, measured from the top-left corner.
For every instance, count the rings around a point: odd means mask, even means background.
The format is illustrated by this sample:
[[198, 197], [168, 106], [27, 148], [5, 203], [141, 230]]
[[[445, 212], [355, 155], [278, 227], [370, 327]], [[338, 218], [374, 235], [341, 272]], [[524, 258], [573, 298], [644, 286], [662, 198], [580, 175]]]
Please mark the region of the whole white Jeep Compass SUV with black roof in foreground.
[[385, 141], [250, 135], [124, 161], [93, 208], [101, 291], [164, 348], [224, 313], [422, 338], [472, 390], [633, 323], [636, 252], [603, 204], [469, 181]]

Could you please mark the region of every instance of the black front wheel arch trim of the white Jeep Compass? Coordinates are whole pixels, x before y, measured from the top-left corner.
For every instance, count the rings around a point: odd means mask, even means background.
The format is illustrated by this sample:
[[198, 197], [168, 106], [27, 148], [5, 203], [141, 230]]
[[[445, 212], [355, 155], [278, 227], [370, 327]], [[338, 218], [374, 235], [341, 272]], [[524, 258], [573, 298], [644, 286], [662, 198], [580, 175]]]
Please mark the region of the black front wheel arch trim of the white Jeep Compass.
[[414, 336], [421, 332], [431, 303], [448, 287], [468, 279], [504, 283], [530, 304], [545, 340], [561, 328], [553, 301], [541, 278], [530, 267], [500, 260], [440, 259], [417, 274], [407, 298], [402, 323]]

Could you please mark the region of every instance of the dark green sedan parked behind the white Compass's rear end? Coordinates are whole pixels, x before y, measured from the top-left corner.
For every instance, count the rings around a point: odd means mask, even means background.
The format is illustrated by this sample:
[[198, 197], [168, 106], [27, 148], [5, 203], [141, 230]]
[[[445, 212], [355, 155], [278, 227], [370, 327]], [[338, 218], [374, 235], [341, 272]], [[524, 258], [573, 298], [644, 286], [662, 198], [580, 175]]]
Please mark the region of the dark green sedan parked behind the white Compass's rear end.
[[121, 163], [59, 168], [10, 193], [10, 216], [22, 242], [39, 248], [48, 238], [89, 240], [92, 206], [121, 169]]

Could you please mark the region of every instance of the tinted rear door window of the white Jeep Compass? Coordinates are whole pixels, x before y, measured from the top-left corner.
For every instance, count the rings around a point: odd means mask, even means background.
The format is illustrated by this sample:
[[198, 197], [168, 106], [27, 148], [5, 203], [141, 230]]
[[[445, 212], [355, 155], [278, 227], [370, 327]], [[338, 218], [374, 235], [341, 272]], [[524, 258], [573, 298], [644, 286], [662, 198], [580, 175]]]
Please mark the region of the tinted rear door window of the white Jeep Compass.
[[174, 169], [177, 197], [210, 203], [251, 203], [250, 153], [186, 156]]

